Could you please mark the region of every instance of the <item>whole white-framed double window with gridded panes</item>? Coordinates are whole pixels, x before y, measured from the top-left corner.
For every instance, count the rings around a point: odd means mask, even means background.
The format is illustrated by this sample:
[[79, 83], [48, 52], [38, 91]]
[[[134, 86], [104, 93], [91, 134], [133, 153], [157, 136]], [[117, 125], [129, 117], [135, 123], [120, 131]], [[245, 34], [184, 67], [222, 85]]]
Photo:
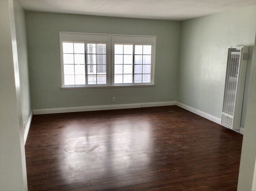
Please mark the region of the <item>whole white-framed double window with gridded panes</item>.
[[154, 85], [156, 36], [59, 32], [61, 87]]

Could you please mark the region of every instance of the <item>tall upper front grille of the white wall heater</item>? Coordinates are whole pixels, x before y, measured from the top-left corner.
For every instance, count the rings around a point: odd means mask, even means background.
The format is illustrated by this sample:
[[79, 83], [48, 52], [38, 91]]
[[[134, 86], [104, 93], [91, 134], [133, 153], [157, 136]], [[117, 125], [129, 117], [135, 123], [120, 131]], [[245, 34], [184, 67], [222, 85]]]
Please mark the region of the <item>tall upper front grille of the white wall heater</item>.
[[222, 112], [234, 116], [241, 48], [228, 48]]

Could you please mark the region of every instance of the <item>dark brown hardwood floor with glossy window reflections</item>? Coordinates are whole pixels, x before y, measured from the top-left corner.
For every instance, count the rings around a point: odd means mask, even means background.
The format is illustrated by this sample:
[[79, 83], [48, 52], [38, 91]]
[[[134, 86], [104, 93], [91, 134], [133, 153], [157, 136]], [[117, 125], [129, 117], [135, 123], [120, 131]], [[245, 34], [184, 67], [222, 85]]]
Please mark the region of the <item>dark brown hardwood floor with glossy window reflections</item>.
[[243, 136], [177, 106], [34, 115], [29, 191], [236, 191]]

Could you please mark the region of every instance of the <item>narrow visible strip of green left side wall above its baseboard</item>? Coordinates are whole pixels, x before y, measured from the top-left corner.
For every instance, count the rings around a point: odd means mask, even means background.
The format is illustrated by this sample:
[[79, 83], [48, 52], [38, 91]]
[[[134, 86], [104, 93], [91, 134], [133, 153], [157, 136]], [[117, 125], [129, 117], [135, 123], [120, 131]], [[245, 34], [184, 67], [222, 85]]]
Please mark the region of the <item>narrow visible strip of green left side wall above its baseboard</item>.
[[[15, 29], [17, 39], [17, 51], [19, 62], [19, 76], [20, 76], [20, 98], [22, 109], [22, 121], [25, 127], [28, 124], [28, 119], [32, 112], [30, 106], [30, 88], [29, 88], [29, 75], [28, 75], [28, 52], [26, 41], [26, 24], [25, 12], [18, 0], [13, 1]], [[22, 125], [23, 126], [23, 125]], [[24, 128], [22, 127], [22, 130]]]

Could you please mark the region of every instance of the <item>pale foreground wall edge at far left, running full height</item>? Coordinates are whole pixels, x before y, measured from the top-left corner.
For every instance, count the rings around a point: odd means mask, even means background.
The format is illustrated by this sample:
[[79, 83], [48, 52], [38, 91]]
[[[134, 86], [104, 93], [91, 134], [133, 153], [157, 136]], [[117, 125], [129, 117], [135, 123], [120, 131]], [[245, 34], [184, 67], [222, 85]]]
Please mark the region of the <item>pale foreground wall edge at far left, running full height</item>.
[[1, 0], [0, 7], [0, 190], [26, 191], [13, 0]]

